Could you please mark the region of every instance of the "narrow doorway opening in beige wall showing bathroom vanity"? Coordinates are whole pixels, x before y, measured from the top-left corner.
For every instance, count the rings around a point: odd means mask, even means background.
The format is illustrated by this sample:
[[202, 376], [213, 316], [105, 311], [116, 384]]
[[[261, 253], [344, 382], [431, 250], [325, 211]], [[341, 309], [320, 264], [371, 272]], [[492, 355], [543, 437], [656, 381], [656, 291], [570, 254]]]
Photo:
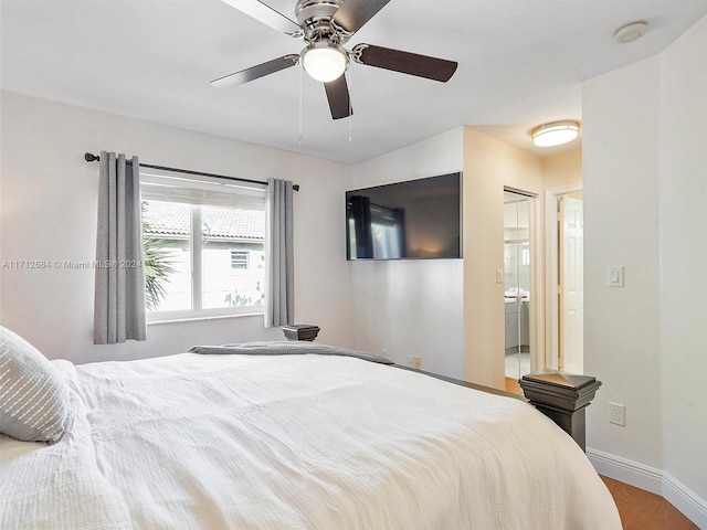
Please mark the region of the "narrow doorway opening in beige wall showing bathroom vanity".
[[513, 381], [531, 371], [531, 197], [504, 192], [504, 359], [506, 380]]

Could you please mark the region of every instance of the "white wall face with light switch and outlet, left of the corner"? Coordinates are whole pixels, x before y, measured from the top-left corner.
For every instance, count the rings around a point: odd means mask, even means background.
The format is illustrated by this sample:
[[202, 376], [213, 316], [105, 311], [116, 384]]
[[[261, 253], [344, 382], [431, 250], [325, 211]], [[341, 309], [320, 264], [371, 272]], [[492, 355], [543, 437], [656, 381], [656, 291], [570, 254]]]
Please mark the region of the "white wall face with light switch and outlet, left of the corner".
[[[588, 446], [659, 468], [659, 60], [584, 84], [584, 370], [601, 380]], [[625, 287], [606, 286], [624, 266]], [[626, 426], [608, 423], [608, 402]]]

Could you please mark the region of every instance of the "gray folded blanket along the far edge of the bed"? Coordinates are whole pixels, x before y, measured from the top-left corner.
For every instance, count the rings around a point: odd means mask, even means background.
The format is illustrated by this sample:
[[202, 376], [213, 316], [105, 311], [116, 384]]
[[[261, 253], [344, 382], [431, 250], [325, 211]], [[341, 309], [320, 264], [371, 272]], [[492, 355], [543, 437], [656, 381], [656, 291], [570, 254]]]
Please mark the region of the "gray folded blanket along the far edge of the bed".
[[365, 361], [378, 362], [380, 364], [394, 364], [390, 359], [367, 353], [363, 351], [349, 350], [336, 346], [315, 344], [305, 341], [268, 341], [268, 342], [243, 342], [240, 344], [223, 346], [194, 346], [189, 349], [190, 353], [224, 354], [238, 353], [242, 356], [303, 356], [314, 353], [317, 356], [344, 356], [356, 357]]

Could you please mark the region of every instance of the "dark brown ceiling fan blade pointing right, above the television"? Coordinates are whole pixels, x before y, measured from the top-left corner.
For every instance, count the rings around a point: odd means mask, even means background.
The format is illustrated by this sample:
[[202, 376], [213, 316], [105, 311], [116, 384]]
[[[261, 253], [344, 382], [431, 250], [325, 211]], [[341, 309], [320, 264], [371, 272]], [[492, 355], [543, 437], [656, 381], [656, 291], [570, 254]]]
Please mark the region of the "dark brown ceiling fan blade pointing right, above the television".
[[457, 66], [454, 61], [401, 52], [389, 47], [372, 46], [370, 44], [356, 45], [351, 50], [351, 56], [357, 63], [368, 66], [392, 70], [393, 72], [416, 75], [442, 83], [450, 81]]

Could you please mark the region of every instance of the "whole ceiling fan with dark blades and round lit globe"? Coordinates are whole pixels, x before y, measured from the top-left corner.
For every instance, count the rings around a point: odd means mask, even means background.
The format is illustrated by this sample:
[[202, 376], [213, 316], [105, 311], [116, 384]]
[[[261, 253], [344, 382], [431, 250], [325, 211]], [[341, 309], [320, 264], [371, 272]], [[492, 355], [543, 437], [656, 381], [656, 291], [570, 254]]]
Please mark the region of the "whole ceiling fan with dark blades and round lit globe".
[[230, 88], [295, 66], [302, 61], [305, 71], [324, 83], [331, 117], [339, 119], [352, 114], [346, 76], [342, 75], [351, 61], [442, 83], [447, 82], [456, 71], [457, 63], [453, 61], [371, 44], [357, 44], [350, 51], [344, 47], [354, 33], [389, 1], [298, 0], [295, 7], [295, 22], [258, 0], [223, 0], [275, 30], [303, 39], [307, 45], [298, 54], [284, 55], [251, 66], [219, 77], [211, 84], [219, 88]]

